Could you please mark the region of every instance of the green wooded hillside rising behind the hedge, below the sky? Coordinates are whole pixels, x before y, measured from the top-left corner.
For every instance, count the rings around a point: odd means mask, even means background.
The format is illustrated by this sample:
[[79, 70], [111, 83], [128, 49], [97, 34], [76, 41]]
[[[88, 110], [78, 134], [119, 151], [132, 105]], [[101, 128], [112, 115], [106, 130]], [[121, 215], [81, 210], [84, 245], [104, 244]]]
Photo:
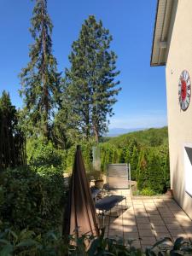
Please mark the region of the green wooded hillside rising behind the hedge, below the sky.
[[137, 143], [143, 146], [160, 146], [161, 144], [168, 143], [167, 127], [133, 131], [118, 137], [110, 137], [107, 142], [115, 146], [125, 147], [130, 140], [136, 140]]

